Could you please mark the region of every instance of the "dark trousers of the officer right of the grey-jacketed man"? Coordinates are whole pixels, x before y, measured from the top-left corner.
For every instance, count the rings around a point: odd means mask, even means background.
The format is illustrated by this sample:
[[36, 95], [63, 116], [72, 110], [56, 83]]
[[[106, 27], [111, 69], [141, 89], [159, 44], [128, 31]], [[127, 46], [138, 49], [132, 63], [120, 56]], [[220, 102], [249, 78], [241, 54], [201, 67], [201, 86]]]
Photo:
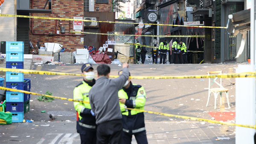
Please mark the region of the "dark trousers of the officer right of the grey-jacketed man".
[[[148, 144], [146, 131], [134, 133], [137, 144]], [[131, 144], [132, 135], [127, 132], [123, 132], [122, 144]]]

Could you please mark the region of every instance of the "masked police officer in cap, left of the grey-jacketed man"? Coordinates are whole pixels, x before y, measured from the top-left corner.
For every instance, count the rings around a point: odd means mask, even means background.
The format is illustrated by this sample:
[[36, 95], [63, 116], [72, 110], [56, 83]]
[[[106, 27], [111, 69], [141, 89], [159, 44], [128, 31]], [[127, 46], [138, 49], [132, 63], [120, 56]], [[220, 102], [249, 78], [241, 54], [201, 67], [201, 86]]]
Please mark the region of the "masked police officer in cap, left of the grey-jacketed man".
[[[84, 81], [77, 85], [73, 91], [74, 100], [88, 101], [89, 91], [95, 84], [93, 67], [90, 63], [85, 63], [81, 67]], [[80, 134], [81, 144], [96, 144], [96, 119], [90, 104], [74, 102], [77, 114], [76, 130]]]

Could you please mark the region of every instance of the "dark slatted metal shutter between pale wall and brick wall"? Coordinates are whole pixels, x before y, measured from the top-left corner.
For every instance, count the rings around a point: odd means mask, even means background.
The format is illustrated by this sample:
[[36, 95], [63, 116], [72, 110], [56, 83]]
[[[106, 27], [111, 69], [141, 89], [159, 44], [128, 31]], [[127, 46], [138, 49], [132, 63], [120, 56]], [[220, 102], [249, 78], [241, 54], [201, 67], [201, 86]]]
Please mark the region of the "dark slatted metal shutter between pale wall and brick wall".
[[24, 54], [29, 54], [29, 28], [17, 27], [17, 41], [24, 42]]

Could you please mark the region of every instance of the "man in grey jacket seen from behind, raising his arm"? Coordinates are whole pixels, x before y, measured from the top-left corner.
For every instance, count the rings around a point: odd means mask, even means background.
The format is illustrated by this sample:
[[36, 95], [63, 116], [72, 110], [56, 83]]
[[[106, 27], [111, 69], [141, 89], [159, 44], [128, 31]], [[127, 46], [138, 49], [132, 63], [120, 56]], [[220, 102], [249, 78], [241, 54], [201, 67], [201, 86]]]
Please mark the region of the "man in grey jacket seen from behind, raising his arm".
[[96, 115], [97, 144], [120, 144], [122, 140], [122, 114], [118, 91], [129, 78], [128, 64], [122, 65], [122, 75], [109, 79], [110, 67], [97, 67], [98, 79], [89, 92], [90, 106]]

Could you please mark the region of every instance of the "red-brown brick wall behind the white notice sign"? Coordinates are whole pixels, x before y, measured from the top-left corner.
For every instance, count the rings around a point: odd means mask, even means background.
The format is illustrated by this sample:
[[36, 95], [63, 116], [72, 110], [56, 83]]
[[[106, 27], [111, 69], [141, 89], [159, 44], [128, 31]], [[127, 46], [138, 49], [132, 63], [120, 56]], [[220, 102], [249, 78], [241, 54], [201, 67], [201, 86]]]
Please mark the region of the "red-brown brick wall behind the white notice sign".
[[[33, 9], [43, 9], [46, 0], [32, 0], [30, 1]], [[46, 7], [48, 9], [48, 5]], [[73, 17], [84, 17], [84, 0], [52, 0], [52, 14], [36, 14], [33, 16], [42, 17], [61, 17], [61, 18], [73, 18]], [[47, 19], [30, 19], [30, 32], [29, 39], [35, 46], [37, 41], [40, 41], [40, 45], [44, 46], [43, 43], [60, 43], [66, 49], [67, 52], [73, 52], [78, 48], [83, 48], [83, 43], [80, 43], [82, 35], [75, 35], [69, 33], [69, 30], [73, 30], [73, 21], [66, 20], [47, 20]], [[57, 25], [56, 25], [57, 23]], [[62, 23], [62, 24], [60, 24]], [[65, 34], [58, 35], [57, 30], [60, 32], [60, 26], [65, 26]], [[32, 30], [33, 33], [32, 34]], [[61, 34], [61, 33], [60, 33]]]

